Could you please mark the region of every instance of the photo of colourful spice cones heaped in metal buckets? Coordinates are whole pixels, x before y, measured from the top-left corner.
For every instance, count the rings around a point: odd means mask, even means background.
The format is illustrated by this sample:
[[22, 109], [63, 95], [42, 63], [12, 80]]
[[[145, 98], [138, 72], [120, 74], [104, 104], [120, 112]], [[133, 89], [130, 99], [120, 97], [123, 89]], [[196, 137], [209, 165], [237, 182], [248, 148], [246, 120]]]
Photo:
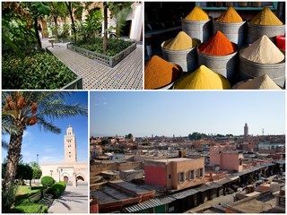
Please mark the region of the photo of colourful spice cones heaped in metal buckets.
[[145, 2], [145, 90], [284, 90], [285, 2]]

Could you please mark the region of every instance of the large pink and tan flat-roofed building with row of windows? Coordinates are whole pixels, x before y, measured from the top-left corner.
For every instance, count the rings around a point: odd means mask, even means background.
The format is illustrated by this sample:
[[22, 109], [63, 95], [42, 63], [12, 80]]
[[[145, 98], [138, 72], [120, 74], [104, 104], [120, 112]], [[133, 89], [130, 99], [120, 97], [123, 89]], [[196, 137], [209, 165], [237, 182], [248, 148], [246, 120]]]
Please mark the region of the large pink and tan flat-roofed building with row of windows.
[[146, 185], [180, 190], [204, 184], [204, 158], [158, 159], [144, 161]]

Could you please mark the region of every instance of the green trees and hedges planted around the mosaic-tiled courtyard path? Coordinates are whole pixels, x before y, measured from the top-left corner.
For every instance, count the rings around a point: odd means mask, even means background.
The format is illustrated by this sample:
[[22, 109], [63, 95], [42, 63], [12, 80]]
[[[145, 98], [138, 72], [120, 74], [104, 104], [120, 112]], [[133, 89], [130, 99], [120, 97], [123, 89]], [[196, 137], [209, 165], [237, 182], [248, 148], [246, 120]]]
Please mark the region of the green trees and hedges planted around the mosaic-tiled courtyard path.
[[[42, 47], [43, 38], [73, 42], [104, 56], [115, 56], [135, 44], [118, 39], [132, 3], [3, 2], [2, 86], [4, 90], [81, 89], [82, 77]], [[116, 27], [101, 30], [110, 12]], [[84, 21], [82, 19], [83, 13]], [[41, 24], [45, 21], [47, 28]], [[108, 31], [115, 39], [108, 39]], [[102, 37], [103, 35], [103, 37]], [[134, 46], [135, 47], [135, 46]], [[82, 53], [80, 53], [82, 54]], [[129, 54], [129, 53], [128, 53]], [[128, 55], [127, 54], [127, 55]], [[88, 56], [90, 57], [90, 56]], [[125, 55], [122, 55], [125, 57]], [[91, 58], [91, 57], [90, 57]]]

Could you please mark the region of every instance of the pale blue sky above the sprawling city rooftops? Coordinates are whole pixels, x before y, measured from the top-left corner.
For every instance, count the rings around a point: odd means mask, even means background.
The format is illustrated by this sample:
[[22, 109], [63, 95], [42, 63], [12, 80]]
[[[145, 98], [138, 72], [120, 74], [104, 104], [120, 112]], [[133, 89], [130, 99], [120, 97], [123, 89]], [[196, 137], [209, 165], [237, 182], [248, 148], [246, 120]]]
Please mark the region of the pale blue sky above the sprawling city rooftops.
[[93, 91], [93, 136], [285, 133], [284, 91]]

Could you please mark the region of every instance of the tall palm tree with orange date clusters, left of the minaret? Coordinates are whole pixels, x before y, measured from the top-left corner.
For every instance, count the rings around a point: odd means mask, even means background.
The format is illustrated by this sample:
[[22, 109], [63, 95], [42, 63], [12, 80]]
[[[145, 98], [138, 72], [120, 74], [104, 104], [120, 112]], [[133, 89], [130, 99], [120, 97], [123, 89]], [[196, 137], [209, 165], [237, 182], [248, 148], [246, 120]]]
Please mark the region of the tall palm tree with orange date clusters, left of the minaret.
[[[2, 93], [2, 126], [10, 134], [3, 192], [13, 184], [21, 157], [22, 136], [28, 126], [39, 125], [46, 132], [61, 133], [53, 120], [67, 116], [87, 116], [87, 107], [66, 104], [69, 92], [12, 91]], [[16, 128], [16, 129], [15, 129]], [[10, 129], [10, 130], [9, 130]]]

